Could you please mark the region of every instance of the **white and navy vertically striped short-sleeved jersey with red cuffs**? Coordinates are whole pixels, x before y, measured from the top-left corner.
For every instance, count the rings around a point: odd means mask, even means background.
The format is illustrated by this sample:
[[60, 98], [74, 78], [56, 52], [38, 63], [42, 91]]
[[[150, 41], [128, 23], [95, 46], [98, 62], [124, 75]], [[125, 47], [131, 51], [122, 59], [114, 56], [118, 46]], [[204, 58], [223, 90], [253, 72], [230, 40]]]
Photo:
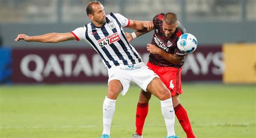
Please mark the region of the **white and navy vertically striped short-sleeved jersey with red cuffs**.
[[132, 65], [142, 61], [138, 52], [125, 37], [123, 27], [129, 26], [130, 20], [119, 13], [106, 15], [102, 27], [92, 22], [79, 27], [71, 33], [79, 40], [85, 40], [95, 49], [107, 68], [119, 65]]

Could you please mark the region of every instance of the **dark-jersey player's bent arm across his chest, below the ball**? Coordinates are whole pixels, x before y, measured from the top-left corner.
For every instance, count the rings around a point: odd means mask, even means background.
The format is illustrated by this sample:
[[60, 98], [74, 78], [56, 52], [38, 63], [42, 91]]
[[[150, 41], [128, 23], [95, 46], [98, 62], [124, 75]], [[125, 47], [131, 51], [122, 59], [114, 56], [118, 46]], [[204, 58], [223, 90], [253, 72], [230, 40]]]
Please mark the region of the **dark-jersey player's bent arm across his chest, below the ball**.
[[173, 64], [180, 64], [183, 60], [184, 56], [178, 56], [177, 54], [171, 54], [167, 53], [160, 48], [158, 48], [156, 45], [147, 44], [147, 51], [149, 51], [152, 54], [159, 54], [161, 57], [166, 59], [167, 61], [173, 63]]

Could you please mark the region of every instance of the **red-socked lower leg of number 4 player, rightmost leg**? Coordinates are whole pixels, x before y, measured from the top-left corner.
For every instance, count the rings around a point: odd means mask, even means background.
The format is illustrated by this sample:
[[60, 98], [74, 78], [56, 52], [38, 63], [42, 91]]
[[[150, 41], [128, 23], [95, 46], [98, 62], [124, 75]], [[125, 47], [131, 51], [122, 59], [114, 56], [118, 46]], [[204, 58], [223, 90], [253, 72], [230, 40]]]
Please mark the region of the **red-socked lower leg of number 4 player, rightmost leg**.
[[179, 95], [172, 96], [172, 102], [175, 114], [177, 116], [177, 119], [179, 120], [179, 123], [181, 127], [183, 128], [184, 132], [187, 135], [187, 138], [194, 138], [196, 137], [193, 133], [190, 120], [188, 119], [188, 115], [186, 112], [186, 109], [180, 104], [179, 101]]

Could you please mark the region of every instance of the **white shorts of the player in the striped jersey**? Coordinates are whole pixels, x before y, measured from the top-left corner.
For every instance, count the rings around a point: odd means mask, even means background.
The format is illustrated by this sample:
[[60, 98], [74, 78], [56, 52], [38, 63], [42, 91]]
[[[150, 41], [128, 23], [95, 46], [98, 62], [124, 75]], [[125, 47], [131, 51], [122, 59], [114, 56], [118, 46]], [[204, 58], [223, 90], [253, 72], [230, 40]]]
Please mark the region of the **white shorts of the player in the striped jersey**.
[[134, 65], [113, 66], [108, 69], [108, 73], [108, 82], [111, 80], [119, 80], [121, 82], [123, 86], [121, 91], [122, 95], [125, 95], [128, 91], [131, 82], [134, 82], [134, 84], [137, 84], [146, 92], [147, 85], [149, 85], [154, 78], [158, 77], [158, 75], [150, 70], [143, 62]]

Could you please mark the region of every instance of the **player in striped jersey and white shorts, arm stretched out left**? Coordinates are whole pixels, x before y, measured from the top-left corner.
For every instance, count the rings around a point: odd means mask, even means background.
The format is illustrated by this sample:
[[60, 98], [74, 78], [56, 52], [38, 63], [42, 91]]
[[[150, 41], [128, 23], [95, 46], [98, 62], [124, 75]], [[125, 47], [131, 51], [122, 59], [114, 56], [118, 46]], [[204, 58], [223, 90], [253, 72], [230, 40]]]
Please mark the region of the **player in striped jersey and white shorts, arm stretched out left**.
[[48, 33], [41, 36], [18, 34], [15, 41], [58, 43], [66, 40], [84, 40], [95, 49], [103, 59], [108, 74], [108, 91], [103, 102], [103, 133], [101, 138], [110, 137], [110, 126], [121, 93], [125, 95], [130, 82], [140, 86], [143, 91], [156, 95], [161, 103], [168, 138], [176, 138], [174, 133], [174, 109], [169, 89], [158, 75], [150, 70], [138, 52], [128, 42], [123, 27], [133, 30], [152, 30], [152, 22], [129, 20], [119, 13], [105, 15], [104, 7], [97, 1], [90, 2], [86, 8], [91, 23], [70, 33]]

